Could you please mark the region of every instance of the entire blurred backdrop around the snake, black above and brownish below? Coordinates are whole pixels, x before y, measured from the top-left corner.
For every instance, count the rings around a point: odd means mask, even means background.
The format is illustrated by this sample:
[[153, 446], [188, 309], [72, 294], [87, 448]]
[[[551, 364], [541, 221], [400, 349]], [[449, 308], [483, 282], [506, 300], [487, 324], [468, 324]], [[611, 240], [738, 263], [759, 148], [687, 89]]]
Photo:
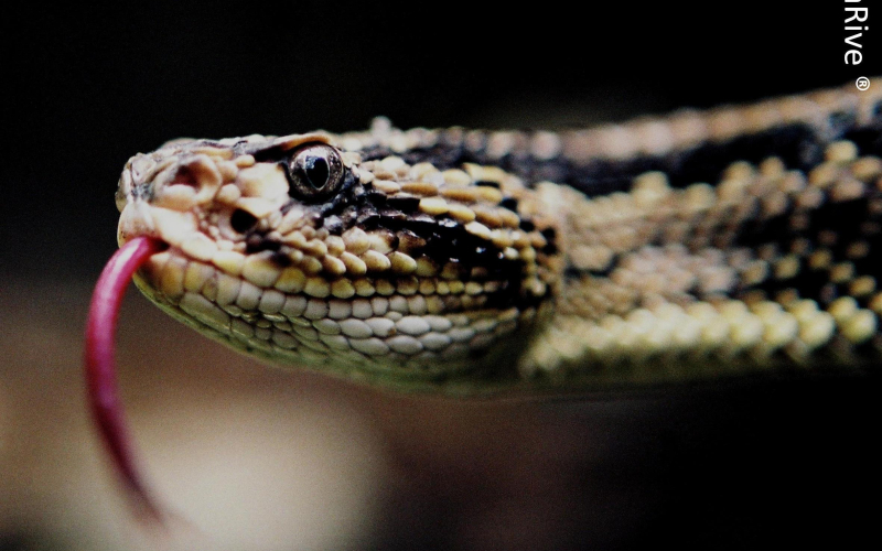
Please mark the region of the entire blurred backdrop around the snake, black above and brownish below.
[[555, 402], [283, 372], [130, 292], [120, 380], [147, 533], [84, 402], [129, 156], [178, 137], [550, 127], [838, 86], [842, 6], [126, 2], [4, 8], [0, 550], [754, 548], [875, 536], [879, 377]]

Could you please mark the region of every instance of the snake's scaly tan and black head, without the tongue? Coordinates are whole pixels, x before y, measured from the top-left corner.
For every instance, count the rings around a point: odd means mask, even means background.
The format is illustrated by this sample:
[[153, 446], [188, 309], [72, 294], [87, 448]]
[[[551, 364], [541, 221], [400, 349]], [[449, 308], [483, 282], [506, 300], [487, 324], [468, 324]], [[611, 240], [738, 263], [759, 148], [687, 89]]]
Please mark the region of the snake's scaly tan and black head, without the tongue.
[[181, 140], [133, 156], [118, 240], [169, 246], [136, 282], [273, 363], [423, 380], [514, 370], [504, 358], [551, 307], [555, 220], [501, 169], [442, 162], [432, 132]]

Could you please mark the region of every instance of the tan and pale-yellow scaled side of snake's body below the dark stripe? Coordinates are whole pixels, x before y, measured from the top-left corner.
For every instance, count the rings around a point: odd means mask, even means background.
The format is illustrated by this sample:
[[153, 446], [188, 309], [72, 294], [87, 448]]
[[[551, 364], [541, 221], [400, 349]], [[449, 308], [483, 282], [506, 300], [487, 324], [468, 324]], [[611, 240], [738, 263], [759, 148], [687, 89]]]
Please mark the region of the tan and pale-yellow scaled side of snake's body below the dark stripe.
[[[794, 239], [788, 248], [775, 236], [755, 249], [731, 246], [745, 224], [790, 213], [790, 226], [799, 228], [819, 205], [882, 197], [882, 160], [856, 155], [853, 143], [831, 143], [827, 161], [807, 176], [776, 159], [759, 168], [735, 163], [716, 187], [671, 190], [659, 173], [636, 179], [630, 194], [593, 199], [548, 187], [566, 213], [569, 263], [612, 270], [563, 285], [548, 338], [523, 368], [533, 374], [653, 358], [717, 369], [736, 358], [753, 366], [806, 364], [817, 350], [853, 363], [854, 346], [882, 350], [882, 293], [851, 262], [832, 261], [836, 231], [819, 231], [816, 242]], [[875, 224], [875, 216], [868, 219], [867, 237], [879, 231]], [[868, 244], [862, 237], [845, 249], [862, 258]], [[821, 272], [848, 295], [804, 298], [793, 287], [767, 296], [757, 289], [802, 270]]]

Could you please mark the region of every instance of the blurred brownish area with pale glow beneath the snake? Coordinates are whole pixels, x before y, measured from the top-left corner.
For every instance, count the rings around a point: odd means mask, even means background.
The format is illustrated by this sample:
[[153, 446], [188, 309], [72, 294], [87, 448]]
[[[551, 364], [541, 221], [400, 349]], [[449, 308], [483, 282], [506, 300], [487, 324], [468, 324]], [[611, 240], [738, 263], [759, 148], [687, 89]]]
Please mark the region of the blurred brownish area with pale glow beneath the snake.
[[593, 401], [386, 395], [255, 364], [132, 288], [120, 385], [181, 519], [133, 522], [84, 402], [90, 282], [0, 281], [0, 550], [848, 544], [880, 490], [878, 377]]

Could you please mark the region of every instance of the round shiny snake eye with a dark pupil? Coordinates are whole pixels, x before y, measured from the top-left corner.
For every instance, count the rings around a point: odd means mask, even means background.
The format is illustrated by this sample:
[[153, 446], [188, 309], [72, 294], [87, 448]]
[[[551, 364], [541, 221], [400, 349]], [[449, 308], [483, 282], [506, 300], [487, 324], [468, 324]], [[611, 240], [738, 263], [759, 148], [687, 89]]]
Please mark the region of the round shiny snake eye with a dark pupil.
[[325, 197], [343, 182], [343, 162], [337, 150], [325, 143], [311, 143], [294, 151], [287, 163], [288, 195], [300, 199]]

